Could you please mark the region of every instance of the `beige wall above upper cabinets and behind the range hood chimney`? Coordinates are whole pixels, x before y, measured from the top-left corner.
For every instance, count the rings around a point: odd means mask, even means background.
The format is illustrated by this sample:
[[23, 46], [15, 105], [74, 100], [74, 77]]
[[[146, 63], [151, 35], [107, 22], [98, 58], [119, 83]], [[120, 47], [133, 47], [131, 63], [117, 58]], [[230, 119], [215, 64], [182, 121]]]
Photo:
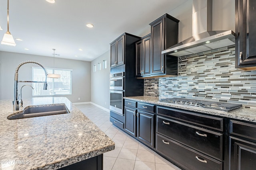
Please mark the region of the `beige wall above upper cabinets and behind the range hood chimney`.
[[[188, 0], [174, 10], [166, 12], [180, 20], [179, 42], [192, 36], [192, 3], [193, 0]], [[235, 1], [212, 0], [212, 30], [230, 29], [235, 31]], [[145, 25], [145, 29], [138, 32], [138, 36], [144, 37], [148, 33], [150, 33], [150, 25]]]

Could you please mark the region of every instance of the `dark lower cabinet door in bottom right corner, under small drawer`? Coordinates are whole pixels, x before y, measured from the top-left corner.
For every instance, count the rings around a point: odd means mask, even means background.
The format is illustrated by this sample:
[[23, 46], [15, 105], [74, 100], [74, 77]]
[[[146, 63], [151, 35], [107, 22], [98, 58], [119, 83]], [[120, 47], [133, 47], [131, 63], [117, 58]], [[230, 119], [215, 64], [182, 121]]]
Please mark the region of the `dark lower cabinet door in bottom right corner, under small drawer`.
[[256, 169], [256, 143], [230, 137], [230, 170]]

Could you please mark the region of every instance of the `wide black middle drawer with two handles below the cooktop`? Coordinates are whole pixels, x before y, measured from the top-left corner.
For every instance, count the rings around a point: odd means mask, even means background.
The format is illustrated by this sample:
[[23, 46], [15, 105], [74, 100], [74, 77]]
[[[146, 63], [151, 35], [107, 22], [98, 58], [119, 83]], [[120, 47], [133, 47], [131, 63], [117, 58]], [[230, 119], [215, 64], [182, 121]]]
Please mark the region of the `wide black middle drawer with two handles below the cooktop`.
[[213, 156], [218, 160], [222, 160], [223, 135], [221, 133], [166, 119], [161, 116], [157, 116], [156, 132], [204, 154]]

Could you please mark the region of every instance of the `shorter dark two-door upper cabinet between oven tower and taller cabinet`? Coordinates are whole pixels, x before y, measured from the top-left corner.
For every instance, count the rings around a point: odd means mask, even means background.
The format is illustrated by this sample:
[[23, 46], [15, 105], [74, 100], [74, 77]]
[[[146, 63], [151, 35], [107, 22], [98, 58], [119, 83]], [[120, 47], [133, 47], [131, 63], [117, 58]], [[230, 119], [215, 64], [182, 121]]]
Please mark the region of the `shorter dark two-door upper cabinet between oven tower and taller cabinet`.
[[150, 75], [150, 34], [136, 43], [136, 77]]

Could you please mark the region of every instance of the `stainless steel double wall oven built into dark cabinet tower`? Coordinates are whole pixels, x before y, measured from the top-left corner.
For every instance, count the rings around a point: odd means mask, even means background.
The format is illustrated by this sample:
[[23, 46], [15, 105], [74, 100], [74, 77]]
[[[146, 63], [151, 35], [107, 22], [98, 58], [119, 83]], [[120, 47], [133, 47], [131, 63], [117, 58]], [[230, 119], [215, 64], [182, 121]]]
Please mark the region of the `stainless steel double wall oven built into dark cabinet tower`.
[[123, 115], [124, 72], [110, 74], [109, 109]]

